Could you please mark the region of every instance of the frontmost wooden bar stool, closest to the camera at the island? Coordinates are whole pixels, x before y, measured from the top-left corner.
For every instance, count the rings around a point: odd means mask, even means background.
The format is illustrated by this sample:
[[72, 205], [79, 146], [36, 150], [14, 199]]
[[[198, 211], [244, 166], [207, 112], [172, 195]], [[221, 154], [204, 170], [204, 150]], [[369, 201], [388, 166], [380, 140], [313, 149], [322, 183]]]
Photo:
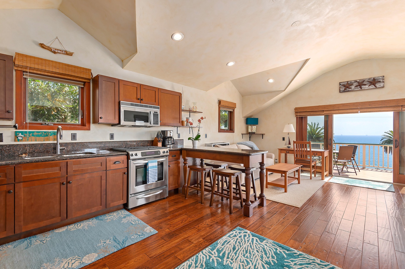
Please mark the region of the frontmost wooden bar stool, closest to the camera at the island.
[[[222, 201], [224, 201], [224, 198], [229, 199], [229, 214], [233, 213], [233, 207], [232, 207], [232, 201], [233, 199], [241, 200], [241, 205], [243, 206], [243, 198], [242, 198], [242, 192], [241, 192], [241, 181], [240, 181], [240, 175], [242, 172], [240, 171], [232, 171], [230, 169], [224, 169], [224, 168], [217, 168], [213, 169], [213, 177], [215, 176], [221, 177], [221, 191], [215, 191], [215, 186], [213, 185], [211, 188], [211, 201], [209, 203], [209, 206], [212, 206], [213, 201], [214, 201], [214, 195], [219, 195], [222, 197]], [[238, 196], [233, 195], [233, 178], [236, 180], [236, 189], [237, 193], [239, 194]], [[230, 184], [226, 184], [226, 181], [229, 180]], [[225, 181], [225, 182], [224, 182]], [[218, 180], [217, 182], [218, 186], [220, 185], [220, 182]], [[230, 186], [230, 188], [226, 186]]]

